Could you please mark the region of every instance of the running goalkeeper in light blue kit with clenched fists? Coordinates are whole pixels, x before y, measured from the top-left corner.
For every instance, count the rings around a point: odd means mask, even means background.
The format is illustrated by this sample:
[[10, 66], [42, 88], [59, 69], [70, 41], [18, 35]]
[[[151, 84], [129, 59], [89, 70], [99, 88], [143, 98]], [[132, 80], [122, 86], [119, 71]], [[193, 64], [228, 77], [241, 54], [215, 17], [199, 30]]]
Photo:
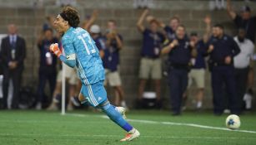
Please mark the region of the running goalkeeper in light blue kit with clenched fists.
[[62, 34], [62, 55], [58, 44], [52, 44], [50, 50], [65, 64], [78, 69], [78, 76], [82, 82], [80, 96], [94, 108], [102, 109], [105, 114], [123, 128], [127, 133], [120, 141], [131, 141], [138, 138], [139, 132], [133, 128], [117, 108], [108, 102], [107, 92], [103, 87], [105, 74], [99, 51], [88, 31], [78, 27], [80, 20], [77, 10], [73, 7], [64, 7], [54, 21], [56, 31]]

